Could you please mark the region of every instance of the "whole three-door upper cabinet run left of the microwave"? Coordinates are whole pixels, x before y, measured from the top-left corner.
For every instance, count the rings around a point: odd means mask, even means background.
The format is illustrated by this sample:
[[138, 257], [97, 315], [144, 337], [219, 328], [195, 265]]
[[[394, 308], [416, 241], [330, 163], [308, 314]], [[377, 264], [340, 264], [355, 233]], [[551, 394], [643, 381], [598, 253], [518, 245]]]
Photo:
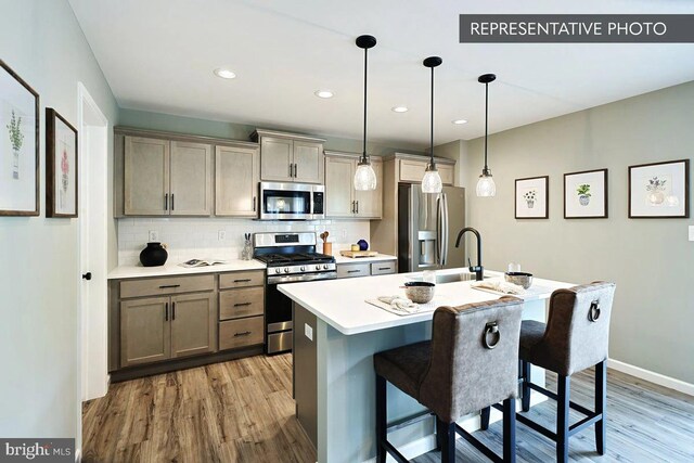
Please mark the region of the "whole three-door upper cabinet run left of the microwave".
[[116, 128], [115, 216], [257, 217], [257, 143]]

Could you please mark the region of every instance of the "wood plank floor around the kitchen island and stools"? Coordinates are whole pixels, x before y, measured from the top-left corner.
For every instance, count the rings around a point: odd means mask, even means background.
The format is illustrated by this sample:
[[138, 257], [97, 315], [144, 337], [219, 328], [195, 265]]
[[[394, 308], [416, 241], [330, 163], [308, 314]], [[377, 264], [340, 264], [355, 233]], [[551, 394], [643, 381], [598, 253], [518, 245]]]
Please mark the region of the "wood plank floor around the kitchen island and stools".
[[[83, 461], [316, 462], [294, 417], [291, 362], [258, 356], [114, 384], [83, 407]], [[571, 461], [694, 462], [694, 398], [613, 370], [607, 382], [607, 454], [595, 453], [591, 428], [570, 439]], [[592, 397], [592, 371], [575, 375], [571, 399], [591, 408]], [[550, 400], [529, 414], [552, 427], [555, 410]], [[500, 451], [500, 422], [475, 435]], [[457, 452], [488, 462], [461, 440]], [[551, 462], [554, 447], [518, 423], [517, 459]], [[414, 460], [439, 461], [435, 451]]]

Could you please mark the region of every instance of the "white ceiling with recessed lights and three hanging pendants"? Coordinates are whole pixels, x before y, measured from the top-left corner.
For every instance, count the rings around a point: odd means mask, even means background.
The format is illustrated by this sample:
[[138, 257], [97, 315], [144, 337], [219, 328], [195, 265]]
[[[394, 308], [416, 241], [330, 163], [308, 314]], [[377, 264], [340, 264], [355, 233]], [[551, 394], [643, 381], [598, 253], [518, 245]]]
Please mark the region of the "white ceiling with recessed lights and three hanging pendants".
[[[677, 0], [69, 0], [121, 107], [361, 139], [361, 34], [369, 52], [369, 139], [428, 145], [694, 80], [694, 44], [460, 44], [460, 13], [694, 13]], [[229, 66], [233, 80], [213, 75]], [[322, 100], [318, 89], [335, 97]], [[410, 111], [396, 114], [393, 106]], [[464, 118], [468, 124], [454, 126]]]

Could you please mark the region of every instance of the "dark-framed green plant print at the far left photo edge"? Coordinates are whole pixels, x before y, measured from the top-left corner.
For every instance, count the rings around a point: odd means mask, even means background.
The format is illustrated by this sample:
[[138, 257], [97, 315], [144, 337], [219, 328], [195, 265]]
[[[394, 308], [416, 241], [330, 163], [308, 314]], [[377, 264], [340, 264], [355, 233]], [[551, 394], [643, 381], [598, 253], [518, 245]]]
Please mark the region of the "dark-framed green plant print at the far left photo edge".
[[39, 215], [39, 94], [0, 60], [0, 216]]

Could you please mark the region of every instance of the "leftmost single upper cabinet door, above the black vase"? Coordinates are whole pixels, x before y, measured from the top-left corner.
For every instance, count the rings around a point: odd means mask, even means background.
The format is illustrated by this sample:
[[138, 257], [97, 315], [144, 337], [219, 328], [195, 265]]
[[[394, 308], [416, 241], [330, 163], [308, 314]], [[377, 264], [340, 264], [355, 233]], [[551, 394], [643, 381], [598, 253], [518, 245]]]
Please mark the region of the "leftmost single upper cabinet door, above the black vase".
[[168, 215], [169, 151], [167, 140], [125, 138], [125, 214]]

